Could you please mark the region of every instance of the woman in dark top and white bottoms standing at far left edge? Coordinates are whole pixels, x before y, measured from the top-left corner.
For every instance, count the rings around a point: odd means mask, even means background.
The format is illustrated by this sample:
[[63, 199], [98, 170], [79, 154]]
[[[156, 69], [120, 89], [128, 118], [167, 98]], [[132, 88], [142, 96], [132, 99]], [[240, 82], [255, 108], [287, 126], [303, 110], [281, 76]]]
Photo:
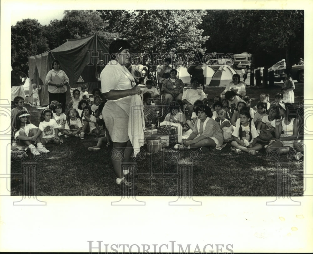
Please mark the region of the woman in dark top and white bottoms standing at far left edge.
[[[12, 71], [11, 71], [11, 105], [14, 106], [14, 98], [19, 96], [23, 97], [25, 100], [25, 92], [23, 85], [27, 79], [27, 75], [24, 72], [20, 71], [21, 64], [19, 62], [12, 63]], [[22, 78], [24, 78], [22, 82]]]

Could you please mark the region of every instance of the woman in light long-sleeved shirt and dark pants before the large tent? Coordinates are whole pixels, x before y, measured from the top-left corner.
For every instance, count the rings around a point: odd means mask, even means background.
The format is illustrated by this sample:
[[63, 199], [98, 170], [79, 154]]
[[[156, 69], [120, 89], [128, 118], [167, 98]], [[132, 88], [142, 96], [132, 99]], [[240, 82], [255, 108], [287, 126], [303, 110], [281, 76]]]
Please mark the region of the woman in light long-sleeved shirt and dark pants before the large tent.
[[66, 108], [66, 91], [69, 78], [60, 67], [58, 60], [52, 62], [52, 69], [46, 76], [46, 84], [48, 85], [49, 102], [58, 101]]

